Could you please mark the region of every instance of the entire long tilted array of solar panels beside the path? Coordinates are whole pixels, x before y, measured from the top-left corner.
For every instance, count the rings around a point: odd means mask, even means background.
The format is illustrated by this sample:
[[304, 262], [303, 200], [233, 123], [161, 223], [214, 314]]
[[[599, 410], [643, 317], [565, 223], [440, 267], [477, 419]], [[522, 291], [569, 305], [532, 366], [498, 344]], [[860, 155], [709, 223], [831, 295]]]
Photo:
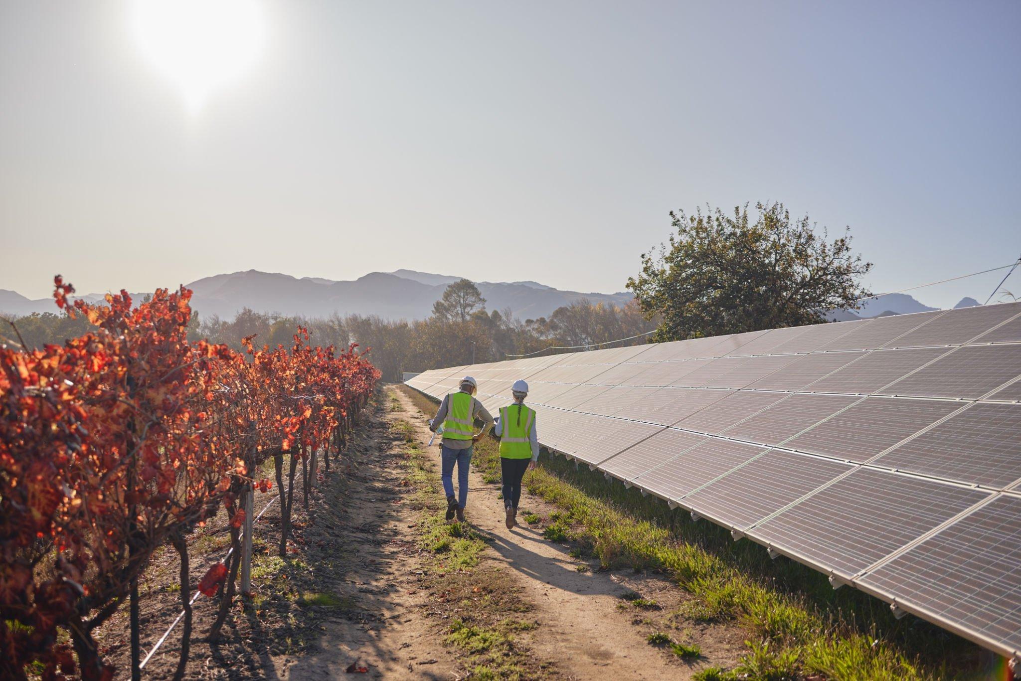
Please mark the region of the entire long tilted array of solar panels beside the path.
[[540, 443], [1021, 658], [1021, 303], [425, 372]]

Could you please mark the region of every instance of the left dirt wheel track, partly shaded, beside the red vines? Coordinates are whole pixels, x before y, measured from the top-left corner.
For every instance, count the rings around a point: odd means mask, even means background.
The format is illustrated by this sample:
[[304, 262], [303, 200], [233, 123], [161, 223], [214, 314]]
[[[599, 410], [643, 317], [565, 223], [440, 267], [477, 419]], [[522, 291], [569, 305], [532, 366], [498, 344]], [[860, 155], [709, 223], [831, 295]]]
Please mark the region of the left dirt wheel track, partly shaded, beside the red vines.
[[[315, 523], [343, 566], [333, 592], [352, 607], [323, 628], [318, 651], [277, 660], [282, 678], [454, 678], [453, 656], [428, 618], [428, 594], [419, 589], [417, 516], [403, 503], [406, 472], [401, 441], [390, 429], [394, 419], [370, 421], [366, 453], [351, 461], [344, 488], [324, 490], [327, 515], [336, 522]], [[318, 541], [310, 529], [305, 539]], [[347, 673], [355, 663], [368, 673]]]

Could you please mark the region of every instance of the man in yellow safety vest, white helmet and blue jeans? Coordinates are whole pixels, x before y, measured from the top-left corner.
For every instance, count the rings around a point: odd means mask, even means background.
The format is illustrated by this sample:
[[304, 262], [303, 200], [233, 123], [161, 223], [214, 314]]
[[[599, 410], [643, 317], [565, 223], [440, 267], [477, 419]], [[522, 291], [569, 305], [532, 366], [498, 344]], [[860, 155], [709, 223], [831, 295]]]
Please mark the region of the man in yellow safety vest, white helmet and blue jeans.
[[[447, 495], [447, 521], [454, 515], [458, 522], [465, 522], [465, 505], [468, 503], [468, 467], [472, 460], [474, 445], [485, 437], [493, 427], [493, 418], [489, 416], [482, 402], [473, 395], [478, 391], [478, 384], [471, 376], [460, 380], [460, 391], [452, 392], [440, 402], [436, 418], [429, 424], [429, 430], [443, 428], [443, 443], [441, 448], [441, 478], [443, 491]], [[475, 420], [483, 422], [482, 432], [475, 433]], [[453, 467], [457, 465], [457, 496], [453, 490]]]

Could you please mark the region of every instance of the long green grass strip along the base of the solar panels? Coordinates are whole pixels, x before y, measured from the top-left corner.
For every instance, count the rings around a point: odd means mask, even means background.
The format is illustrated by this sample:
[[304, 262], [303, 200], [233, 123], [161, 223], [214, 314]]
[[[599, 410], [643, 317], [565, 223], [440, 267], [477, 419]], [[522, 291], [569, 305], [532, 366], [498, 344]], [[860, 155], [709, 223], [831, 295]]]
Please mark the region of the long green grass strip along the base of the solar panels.
[[[434, 408], [429, 397], [402, 389], [425, 411]], [[896, 621], [884, 603], [860, 591], [834, 590], [810, 568], [786, 558], [771, 561], [758, 544], [734, 542], [723, 528], [670, 510], [661, 499], [615, 485], [586, 467], [575, 469], [548, 454], [540, 461], [526, 474], [525, 484], [561, 508], [546, 532], [555, 541], [565, 540], [570, 520], [573, 538], [603, 569], [671, 575], [692, 596], [678, 615], [741, 625], [753, 642], [736, 674], [763, 679], [950, 678], [980, 665], [977, 646], [938, 627], [914, 618]], [[498, 467], [495, 441], [476, 445], [473, 465]], [[554, 526], [558, 530], [551, 530]]]

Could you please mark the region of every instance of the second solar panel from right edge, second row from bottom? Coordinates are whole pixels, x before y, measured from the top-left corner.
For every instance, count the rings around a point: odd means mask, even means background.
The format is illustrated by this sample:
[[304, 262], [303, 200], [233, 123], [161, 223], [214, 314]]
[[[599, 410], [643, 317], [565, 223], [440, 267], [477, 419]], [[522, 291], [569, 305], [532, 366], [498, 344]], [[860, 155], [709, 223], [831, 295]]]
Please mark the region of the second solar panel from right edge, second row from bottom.
[[867, 397], [784, 446], [863, 463], [960, 408], [943, 400]]

